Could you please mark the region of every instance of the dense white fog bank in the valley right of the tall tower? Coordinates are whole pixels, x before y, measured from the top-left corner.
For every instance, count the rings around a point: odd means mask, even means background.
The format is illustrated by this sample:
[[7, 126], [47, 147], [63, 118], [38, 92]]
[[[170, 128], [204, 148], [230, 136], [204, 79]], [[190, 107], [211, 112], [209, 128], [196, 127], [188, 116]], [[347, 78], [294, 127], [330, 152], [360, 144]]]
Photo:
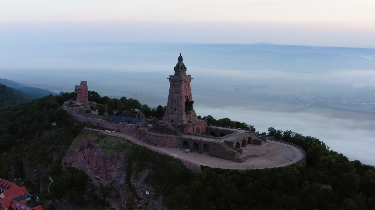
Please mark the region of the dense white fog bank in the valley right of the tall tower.
[[[198, 103], [198, 102], [197, 102]], [[252, 103], [252, 102], [249, 102]], [[253, 102], [254, 103], [254, 102]], [[267, 105], [265, 105], [267, 106]], [[281, 130], [292, 130], [306, 136], [314, 136], [323, 140], [331, 149], [343, 153], [350, 160], [361, 160], [366, 164], [375, 164], [375, 117], [364, 120], [361, 117], [332, 118], [324, 110], [308, 110], [306, 112], [279, 112], [245, 107], [229, 106], [225, 108], [211, 108], [209, 106], [195, 106], [197, 114], [208, 113], [213, 117], [229, 117], [237, 121], [244, 121], [255, 125], [260, 132], [268, 127]], [[319, 112], [320, 111], [320, 112]], [[345, 117], [347, 113], [341, 113]]]

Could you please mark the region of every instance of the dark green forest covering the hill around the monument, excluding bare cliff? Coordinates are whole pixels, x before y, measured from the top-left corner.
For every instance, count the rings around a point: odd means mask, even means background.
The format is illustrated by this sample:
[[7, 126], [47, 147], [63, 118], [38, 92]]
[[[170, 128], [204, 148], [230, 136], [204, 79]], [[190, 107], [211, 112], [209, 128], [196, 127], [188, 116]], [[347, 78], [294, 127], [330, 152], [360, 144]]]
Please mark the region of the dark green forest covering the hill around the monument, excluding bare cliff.
[[[43, 202], [57, 198], [74, 205], [103, 209], [108, 206], [105, 198], [115, 196], [115, 193], [110, 193], [113, 183], [98, 187], [93, 185], [83, 171], [62, 167], [62, 157], [84, 126], [73, 121], [66, 111], [60, 108], [72, 95], [63, 93], [0, 108], [0, 177], [31, 180], [37, 176], [37, 182], [44, 183], [43, 191], [39, 192], [39, 186], [33, 187], [30, 181], [27, 182], [27, 187], [31, 189], [31, 194], [41, 193]], [[109, 109], [113, 103], [113, 109], [126, 111], [131, 104], [136, 104], [144, 111], [149, 110], [135, 99], [114, 100], [100, 96], [93, 99], [95, 95], [90, 95], [92, 100], [106, 104]], [[152, 113], [153, 110], [150, 111]], [[228, 118], [208, 118], [211, 123], [216, 124], [241, 124]], [[57, 122], [57, 125], [52, 126], [51, 122]], [[255, 130], [252, 126], [248, 126], [248, 129]], [[362, 164], [358, 160], [350, 161], [343, 154], [330, 150], [324, 142], [311, 136], [274, 128], [269, 128], [267, 135], [295, 143], [305, 149], [306, 168], [292, 165], [240, 173], [202, 167], [202, 173], [194, 173], [179, 160], [123, 139], [114, 144], [106, 142], [104, 135], [94, 143], [104, 150], [110, 149], [124, 154], [125, 183], [130, 189], [131, 184], [127, 182], [130, 177], [147, 171], [144, 184], [154, 189], [153, 197], [161, 198], [168, 209], [375, 209], [373, 166]], [[54, 192], [51, 194], [46, 192], [46, 175], [55, 179], [52, 188]], [[327, 185], [332, 187], [332, 191], [326, 190], [329, 189]], [[326, 189], [323, 186], [326, 186]], [[129, 194], [129, 197], [132, 196], [135, 195]], [[51, 206], [45, 208], [52, 209]], [[133, 204], [127, 203], [126, 209], [133, 209]]]

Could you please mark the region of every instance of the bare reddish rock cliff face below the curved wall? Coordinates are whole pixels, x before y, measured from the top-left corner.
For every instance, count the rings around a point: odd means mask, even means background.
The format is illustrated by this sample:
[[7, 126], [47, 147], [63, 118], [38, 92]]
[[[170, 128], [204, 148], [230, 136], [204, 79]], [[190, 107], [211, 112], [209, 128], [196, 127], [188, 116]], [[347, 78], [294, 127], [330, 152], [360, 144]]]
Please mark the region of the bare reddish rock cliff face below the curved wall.
[[[95, 145], [95, 140], [90, 135], [77, 136], [66, 152], [63, 163], [84, 170], [98, 185], [103, 183], [113, 187], [108, 201], [115, 209], [126, 209], [129, 206], [133, 209], [166, 209], [160, 199], [153, 200], [153, 189], [143, 183], [147, 171], [138, 173], [137, 176], [130, 173], [129, 179], [129, 173], [126, 173], [126, 156], [120, 153], [105, 154]], [[96, 180], [95, 176], [104, 180]], [[130, 180], [130, 183], [126, 180]], [[150, 195], [145, 194], [145, 191], [150, 192]]]

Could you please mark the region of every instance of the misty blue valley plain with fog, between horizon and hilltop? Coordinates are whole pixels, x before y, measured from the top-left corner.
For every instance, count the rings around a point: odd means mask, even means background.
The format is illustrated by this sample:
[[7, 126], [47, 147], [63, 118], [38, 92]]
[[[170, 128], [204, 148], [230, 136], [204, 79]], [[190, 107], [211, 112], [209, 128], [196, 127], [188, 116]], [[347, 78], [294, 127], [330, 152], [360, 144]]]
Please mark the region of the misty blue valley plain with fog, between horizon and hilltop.
[[179, 53], [198, 115], [317, 137], [375, 164], [375, 49], [275, 44], [84, 43], [2, 45], [0, 78], [166, 105]]

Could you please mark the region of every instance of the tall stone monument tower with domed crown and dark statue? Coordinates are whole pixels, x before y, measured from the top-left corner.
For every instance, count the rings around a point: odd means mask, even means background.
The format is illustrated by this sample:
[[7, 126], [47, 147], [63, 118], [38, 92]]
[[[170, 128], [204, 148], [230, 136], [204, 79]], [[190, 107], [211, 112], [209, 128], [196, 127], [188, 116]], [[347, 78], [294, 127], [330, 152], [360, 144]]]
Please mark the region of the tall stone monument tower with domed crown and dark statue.
[[[170, 123], [183, 133], [201, 134], [205, 132], [207, 121], [198, 119], [193, 108], [190, 88], [191, 75], [186, 75], [183, 58], [178, 56], [174, 74], [169, 75], [168, 104], [162, 122]], [[199, 125], [198, 125], [199, 124]]]

